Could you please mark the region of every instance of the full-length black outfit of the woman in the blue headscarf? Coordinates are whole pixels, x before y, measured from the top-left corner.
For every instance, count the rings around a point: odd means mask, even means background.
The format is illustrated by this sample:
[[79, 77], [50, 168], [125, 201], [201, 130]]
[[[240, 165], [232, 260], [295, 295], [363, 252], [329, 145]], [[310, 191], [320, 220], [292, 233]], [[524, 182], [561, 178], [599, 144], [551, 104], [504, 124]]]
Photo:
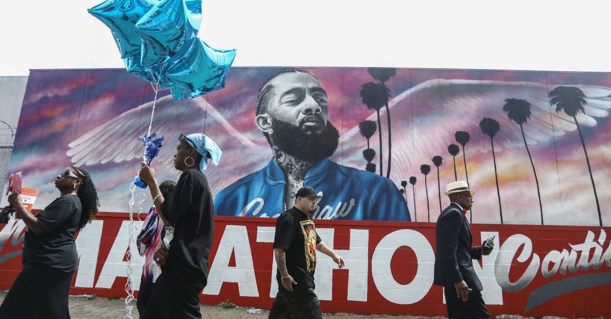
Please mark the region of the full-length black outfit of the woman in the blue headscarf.
[[198, 170], [183, 172], [161, 213], [174, 225], [174, 238], [141, 318], [201, 318], [199, 295], [208, 280], [214, 226], [206, 177]]

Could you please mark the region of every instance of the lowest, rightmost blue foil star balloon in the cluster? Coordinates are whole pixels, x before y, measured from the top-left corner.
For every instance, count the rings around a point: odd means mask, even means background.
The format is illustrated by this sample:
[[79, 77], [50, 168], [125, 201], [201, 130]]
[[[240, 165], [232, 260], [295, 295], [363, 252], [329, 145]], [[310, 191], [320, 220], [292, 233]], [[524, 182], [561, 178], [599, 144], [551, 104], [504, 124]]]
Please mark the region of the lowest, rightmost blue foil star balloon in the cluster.
[[175, 84], [172, 87], [174, 99], [196, 98], [225, 87], [235, 52], [235, 49], [210, 48], [199, 39], [194, 41], [185, 56], [174, 60], [173, 65], [165, 71]]

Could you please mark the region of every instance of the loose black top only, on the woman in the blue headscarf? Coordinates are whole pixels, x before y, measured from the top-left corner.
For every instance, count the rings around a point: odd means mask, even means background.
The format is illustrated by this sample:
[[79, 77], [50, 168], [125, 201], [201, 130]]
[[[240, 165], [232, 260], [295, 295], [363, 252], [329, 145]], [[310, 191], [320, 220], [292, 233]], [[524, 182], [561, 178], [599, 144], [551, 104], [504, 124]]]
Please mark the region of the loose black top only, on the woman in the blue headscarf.
[[208, 280], [214, 227], [214, 206], [206, 176], [198, 170], [183, 172], [161, 204], [161, 213], [174, 225], [174, 238], [162, 272], [177, 281], [175, 284], [202, 289]]

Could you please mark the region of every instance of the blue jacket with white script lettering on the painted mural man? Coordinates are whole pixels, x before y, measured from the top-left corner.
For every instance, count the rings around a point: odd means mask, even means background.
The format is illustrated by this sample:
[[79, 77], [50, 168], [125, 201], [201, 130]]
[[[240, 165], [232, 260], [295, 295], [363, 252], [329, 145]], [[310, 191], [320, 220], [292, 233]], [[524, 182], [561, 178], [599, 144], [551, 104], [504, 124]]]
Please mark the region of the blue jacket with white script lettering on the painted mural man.
[[[305, 174], [304, 185], [323, 195], [312, 218], [411, 221], [397, 186], [378, 174], [323, 159]], [[284, 173], [270, 160], [262, 170], [239, 179], [216, 195], [214, 212], [275, 217], [290, 208], [285, 207], [284, 192]]]

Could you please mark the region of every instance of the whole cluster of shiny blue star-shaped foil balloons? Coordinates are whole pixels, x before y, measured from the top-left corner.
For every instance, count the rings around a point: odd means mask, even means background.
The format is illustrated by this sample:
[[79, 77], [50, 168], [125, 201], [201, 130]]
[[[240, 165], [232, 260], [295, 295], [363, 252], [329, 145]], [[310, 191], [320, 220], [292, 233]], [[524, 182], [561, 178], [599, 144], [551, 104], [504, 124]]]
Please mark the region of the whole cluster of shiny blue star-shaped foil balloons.
[[201, 0], [106, 0], [88, 10], [112, 31], [127, 71], [175, 100], [225, 86], [235, 49], [213, 49], [197, 38]]

